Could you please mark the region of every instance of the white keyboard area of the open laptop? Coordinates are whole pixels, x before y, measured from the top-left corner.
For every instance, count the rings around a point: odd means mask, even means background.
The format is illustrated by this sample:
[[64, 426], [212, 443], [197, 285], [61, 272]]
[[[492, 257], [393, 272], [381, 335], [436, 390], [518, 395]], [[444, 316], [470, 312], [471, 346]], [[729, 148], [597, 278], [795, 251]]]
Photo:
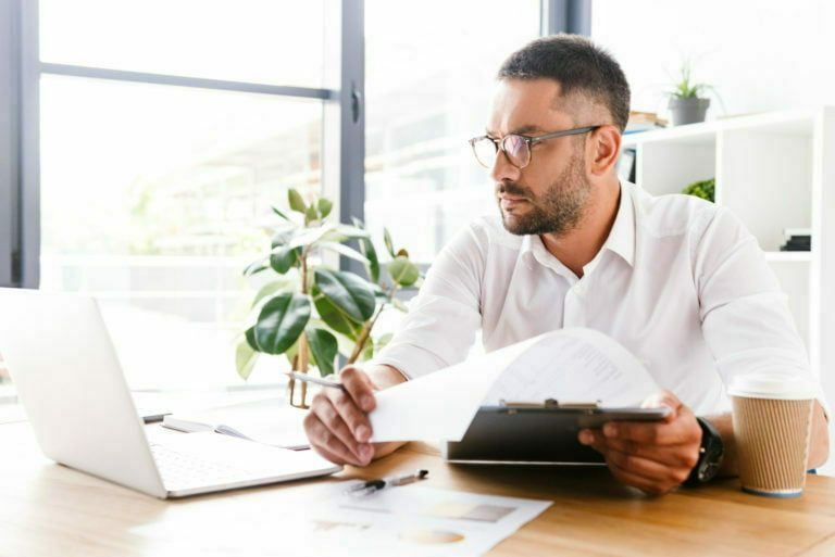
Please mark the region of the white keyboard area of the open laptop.
[[242, 467], [212, 461], [155, 443], [151, 444], [151, 454], [167, 489], [217, 485], [250, 479], [253, 473]]

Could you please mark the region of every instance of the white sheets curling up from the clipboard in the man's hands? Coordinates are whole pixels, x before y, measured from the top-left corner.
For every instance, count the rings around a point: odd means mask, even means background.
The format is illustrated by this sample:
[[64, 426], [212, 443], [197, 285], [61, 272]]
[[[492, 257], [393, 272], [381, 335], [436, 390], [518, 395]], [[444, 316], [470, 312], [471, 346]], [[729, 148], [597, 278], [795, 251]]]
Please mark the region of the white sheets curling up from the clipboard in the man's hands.
[[657, 390], [620, 343], [566, 328], [381, 391], [370, 415], [372, 441], [461, 441], [478, 407], [500, 400], [634, 407]]

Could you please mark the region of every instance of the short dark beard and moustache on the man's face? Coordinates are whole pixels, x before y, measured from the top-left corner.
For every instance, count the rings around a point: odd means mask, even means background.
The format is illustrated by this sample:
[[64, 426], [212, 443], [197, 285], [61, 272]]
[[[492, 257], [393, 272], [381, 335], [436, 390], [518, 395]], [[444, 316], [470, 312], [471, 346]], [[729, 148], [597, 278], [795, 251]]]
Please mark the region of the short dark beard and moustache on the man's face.
[[539, 198], [534, 198], [529, 191], [513, 182], [499, 185], [499, 193], [524, 197], [529, 205], [522, 215], [506, 214], [499, 200], [499, 213], [504, 228], [520, 236], [551, 233], [558, 237], [576, 229], [591, 192], [584, 168], [584, 156], [575, 153], [571, 164]]

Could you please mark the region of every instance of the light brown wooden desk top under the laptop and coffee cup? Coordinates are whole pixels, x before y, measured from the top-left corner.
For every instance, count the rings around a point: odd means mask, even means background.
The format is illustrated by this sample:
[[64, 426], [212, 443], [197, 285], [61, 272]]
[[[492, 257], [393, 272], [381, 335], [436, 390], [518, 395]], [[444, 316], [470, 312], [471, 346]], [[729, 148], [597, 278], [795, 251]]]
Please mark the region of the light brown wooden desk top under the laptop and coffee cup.
[[[165, 502], [46, 459], [27, 423], [0, 426], [0, 446], [2, 556], [157, 557], [164, 548], [128, 529], [176, 512], [235, 536], [235, 526], [248, 517], [229, 517], [230, 502], [236, 508], [275, 505], [292, 489], [273, 485]], [[828, 477], [809, 477], [805, 495], [796, 499], [747, 495], [736, 480], [650, 498], [620, 485], [605, 469], [447, 465], [434, 447], [412, 443], [337, 478], [378, 478], [418, 467], [431, 470], [434, 486], [553, 499], [489, 555], [835, 556], [835, 478]], [[279, 540], [281, 523], [264, 539]], [[252, 543], [254, 549], [264, 540]]]

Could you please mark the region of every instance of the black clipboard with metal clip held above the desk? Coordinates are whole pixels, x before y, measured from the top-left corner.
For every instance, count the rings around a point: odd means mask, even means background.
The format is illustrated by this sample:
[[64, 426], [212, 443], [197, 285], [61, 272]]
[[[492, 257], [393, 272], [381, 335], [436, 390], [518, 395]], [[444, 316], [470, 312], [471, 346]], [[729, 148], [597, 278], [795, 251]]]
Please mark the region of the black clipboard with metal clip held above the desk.
[[596, 403], [502, 403], [482, 406], [459, 442], [447, 442], [443, 456], [461, 464], [601, 466], [594, 448], [577, 440], [581, 429], [608, 421], [661, 421], [670, 408], [606, 408]]

